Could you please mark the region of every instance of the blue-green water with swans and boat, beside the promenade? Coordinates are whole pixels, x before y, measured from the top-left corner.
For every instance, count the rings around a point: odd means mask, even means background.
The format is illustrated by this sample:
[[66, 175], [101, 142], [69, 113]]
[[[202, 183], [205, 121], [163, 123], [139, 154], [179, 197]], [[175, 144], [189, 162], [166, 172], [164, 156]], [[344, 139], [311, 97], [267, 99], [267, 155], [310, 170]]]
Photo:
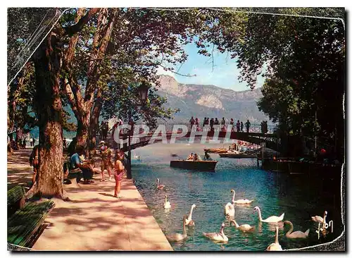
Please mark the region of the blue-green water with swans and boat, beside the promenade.
[[[306, 247], [337, 238], [342, 231], [338, 191], [327, 192], [321, 189], [319, 180], [303, 175], [290, 175], [263, 171], [258, 168], [256, 159], [224, 159], [210, 154], [218, 160], [215, 173], [187, 171], [170, 168], [170, 160], [181, 158], [190, 152], [203, 156], [203, 147], [222, 147], [223, 145], [175, 145], [155, 144], [136, 149], [132, 154], [140, 156], [140, 161], [132, 161], [132, 176], [136, 186], [165, 234], [182, 233], [182, 216], [188, 214], [191, 204], [196, 204], [192, 219], [194, 228], [187, 228], [189, 238], [182, 243], [171, 243], [174, 250], [180, 251], [263, 251], [275, 242], [275, 228], [268, 223], [260, 223], [253, 210], [258, 206], [263, 219], [285, 213], [284, 220], [294, 224], [294, 231], [310, 233], [305, 240], [289, 240], [284, 231], [279, 230], [279, 243], [283, 249]], [[156, 189], [156, 178], [166, 185], [165, 190]], [[326, 184], [325, 184], [326, 185]], [[237, 223], [255, 226], [253, 233], [242, 233], [230, 226], [225, 218], [224, 208], [231, 202], [230, 190], [236, 191], [235, 199], [255, 199], [249, 207], [235, 206]], [[123, 186], [122, 186], [123, 190]], [[170, 211], [163, 208], [164, 195], [167, 194], [172, 205]], [[332, 198], [334, 196], [335, 198]], [[323, 237], [315, 230], [318, 223], [310, 221], [310, 216], [322, 216], [327, 210], [327, 221], [334, 221], [333, 233]], [[203, 232], [219, 232], [225, 222], [227, 244], [217, 244], [203, 237]]]

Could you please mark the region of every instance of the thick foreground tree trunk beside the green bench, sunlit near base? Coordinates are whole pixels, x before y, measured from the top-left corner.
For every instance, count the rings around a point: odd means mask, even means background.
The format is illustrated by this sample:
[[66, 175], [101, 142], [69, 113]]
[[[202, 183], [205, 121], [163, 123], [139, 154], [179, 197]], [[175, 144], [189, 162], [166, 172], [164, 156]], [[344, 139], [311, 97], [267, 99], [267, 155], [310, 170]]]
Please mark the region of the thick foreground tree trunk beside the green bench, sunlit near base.
[[35, 107], [39, 121], [39, 171], [27, 192], [32, 195], [58, 196], [63, 190], [63, 130], [60, 96], [61, 35], [51, 32], [34, 54], [37, 94]]

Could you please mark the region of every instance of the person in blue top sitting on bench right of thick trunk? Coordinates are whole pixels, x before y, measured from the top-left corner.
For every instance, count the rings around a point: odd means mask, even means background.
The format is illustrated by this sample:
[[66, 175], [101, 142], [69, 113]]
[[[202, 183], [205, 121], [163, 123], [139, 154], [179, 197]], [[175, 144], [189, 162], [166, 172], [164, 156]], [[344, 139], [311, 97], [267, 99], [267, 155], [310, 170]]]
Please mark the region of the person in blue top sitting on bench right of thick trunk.
[[[84, 184], [94, 183], [94, 180], [92, 180], [92, 167], [80, 159], [83, 151], [84, 147], [82, 145], [77, 145], [76, 153], [70, 158], [70, 173], [82, 174]], [[80, 176], [77, 176], [77, 183], [80, 183]]]

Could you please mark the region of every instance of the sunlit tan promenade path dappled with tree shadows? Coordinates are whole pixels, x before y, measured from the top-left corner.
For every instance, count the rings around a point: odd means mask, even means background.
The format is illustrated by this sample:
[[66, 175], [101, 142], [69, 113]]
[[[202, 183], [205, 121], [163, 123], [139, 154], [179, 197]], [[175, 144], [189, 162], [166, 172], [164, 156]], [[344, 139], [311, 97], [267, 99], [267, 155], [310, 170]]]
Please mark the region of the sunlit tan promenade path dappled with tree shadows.
[[[26, 185], [32, 176], [30, 149], [8, 156], [8, 188]], [[172, 251], [132, 180], [122, 180], [121, 199], [113, 197], [114, 180], [65, 185], [72, 200], [53, 198], [46, 229], [33, 250], [164, 250]]]

